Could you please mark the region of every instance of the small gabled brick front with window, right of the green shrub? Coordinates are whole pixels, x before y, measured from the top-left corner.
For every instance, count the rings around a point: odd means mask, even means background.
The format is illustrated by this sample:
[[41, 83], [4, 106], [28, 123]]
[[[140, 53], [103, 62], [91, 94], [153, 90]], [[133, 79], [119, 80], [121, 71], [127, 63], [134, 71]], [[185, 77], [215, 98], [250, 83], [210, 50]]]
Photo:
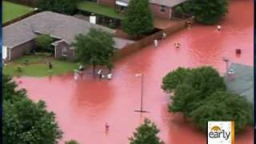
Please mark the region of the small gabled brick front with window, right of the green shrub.
[[[63, 47], [66, 47], [66, 56], [62, 55]], [[68, 60], [72, 61], [75, 58], [74, 50], [70, 50], [70, 45], [66, 42], [59, 42], [58, 45], [55, 46], [55, 58], [67, 58]]]

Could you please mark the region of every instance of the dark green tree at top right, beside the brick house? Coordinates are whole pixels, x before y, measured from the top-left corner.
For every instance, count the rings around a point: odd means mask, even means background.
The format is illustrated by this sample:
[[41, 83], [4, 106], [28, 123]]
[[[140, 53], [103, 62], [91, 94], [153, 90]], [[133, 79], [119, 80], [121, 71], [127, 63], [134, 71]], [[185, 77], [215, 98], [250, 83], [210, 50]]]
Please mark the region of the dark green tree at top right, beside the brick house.
[[[182, 8], [182, 10], [181, 10]], [[195, 20], [204, 24], [214, 24], [228, 12], [228, 0], [192, 0], [177, 6], [177, 12], [195, 16]]]

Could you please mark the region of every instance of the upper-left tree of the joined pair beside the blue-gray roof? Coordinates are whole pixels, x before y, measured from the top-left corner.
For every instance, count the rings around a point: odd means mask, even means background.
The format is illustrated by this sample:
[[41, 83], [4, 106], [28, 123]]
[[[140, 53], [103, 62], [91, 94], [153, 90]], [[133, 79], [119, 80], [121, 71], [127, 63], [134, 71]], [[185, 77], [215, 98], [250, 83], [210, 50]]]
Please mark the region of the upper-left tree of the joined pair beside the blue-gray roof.
[[182, 84], [177, 84], [174, 96], [170, 97], [169, 110], [190, 114], [216, 90], [226, 90], [224, 80], [217, 70], [210, 66], [192, 69], [188, 71]]

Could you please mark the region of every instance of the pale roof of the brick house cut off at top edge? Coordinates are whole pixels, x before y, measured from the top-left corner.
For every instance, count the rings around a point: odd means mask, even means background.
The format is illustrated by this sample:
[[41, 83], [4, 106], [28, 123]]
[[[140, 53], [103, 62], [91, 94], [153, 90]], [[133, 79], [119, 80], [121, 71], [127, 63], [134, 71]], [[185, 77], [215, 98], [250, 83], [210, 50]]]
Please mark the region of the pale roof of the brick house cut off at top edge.
[[[118, 0], [120, 2], [129, 2], [129, 0]], [[178, 4], [181, 4], [182, 2], [186, 2], [187, 0], [150, 0], [150, 3], [162, 5], [162, 6], [177, 6]]]

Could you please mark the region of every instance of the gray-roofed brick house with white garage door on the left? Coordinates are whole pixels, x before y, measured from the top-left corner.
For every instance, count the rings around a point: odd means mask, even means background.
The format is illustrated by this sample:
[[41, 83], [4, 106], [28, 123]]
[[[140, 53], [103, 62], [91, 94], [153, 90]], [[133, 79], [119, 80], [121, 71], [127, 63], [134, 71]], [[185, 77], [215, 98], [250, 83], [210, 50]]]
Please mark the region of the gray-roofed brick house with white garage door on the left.
[[[26, 50], [34, 48], [34, 38], [38, 34], [48, 34], [54, 39], [52, 42], [54, 57], [73, 60], [76, 50], [70, 44], [75, 41], [78, 34], [87, 34], [92, 27], [108, 31], [111, 34], [115, 32], [107, 27], [94, 25], [64, 14], [50, 11], [34, 14], [2, 28], [2, 53], [7, 60], [18, 58]], [[114, 42], [114, 47], [117, 50], [133, 43], [133, 41], [122, 38], [114, 38]]]

